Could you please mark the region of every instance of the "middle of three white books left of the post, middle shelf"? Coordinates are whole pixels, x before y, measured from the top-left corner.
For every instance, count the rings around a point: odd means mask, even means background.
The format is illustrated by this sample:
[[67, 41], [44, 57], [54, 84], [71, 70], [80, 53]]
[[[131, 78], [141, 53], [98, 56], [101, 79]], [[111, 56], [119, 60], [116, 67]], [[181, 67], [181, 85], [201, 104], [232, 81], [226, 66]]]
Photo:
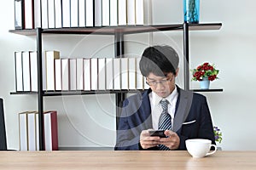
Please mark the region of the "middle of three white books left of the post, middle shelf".
[[30, 51], [22, 53], [23, 91], [31, 91]]

